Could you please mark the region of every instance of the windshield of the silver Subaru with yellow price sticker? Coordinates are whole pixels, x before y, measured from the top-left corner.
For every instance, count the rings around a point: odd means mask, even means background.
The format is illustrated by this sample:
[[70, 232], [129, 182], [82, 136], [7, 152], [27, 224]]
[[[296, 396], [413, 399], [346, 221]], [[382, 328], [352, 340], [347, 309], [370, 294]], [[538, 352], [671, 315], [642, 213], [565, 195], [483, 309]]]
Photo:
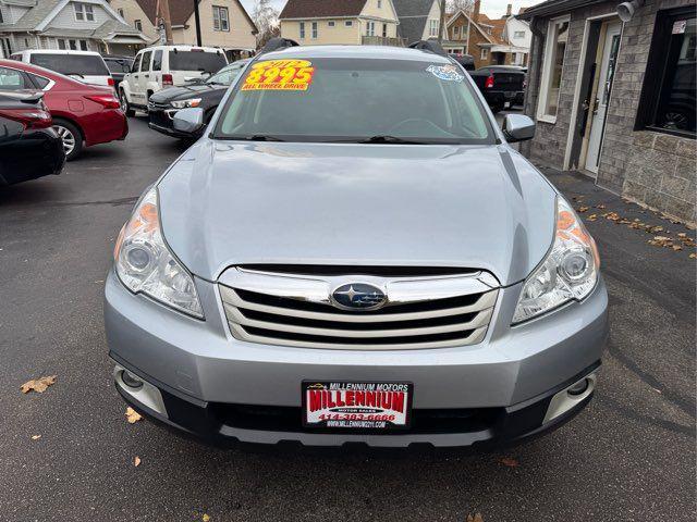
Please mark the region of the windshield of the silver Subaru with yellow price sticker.
[[407, 60], [256, 62], [235, 86], [213, 138], [493, 142], [464, 75], [455, 65]]

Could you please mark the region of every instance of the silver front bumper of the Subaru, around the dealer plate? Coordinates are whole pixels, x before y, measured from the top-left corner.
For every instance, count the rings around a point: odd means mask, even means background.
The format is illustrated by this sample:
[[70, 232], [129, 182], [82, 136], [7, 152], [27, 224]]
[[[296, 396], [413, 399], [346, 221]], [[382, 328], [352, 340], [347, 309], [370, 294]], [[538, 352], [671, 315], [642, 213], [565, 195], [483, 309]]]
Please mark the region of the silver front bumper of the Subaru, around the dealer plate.
[[[124, 399], [215, 444], [468, 446], [525, 438], [559, 425], [590, 400], [592, 387], [549, 417], [558, 394], [595, 372], [608, 331], [602, 279], [584, 302], [511, 327], [518, 284], [501, 289], [478, 345], [370, 352], [288, 348], [234, 339], [216, 285], [196, 279], [196, 286], [206, 321], [131, 294], [111, 271], [105, 321], [111, 358], [151, 386], [162, 407], [131, 394], [119, 370], [117, 388]], [[306, 431], [299, 415], [303, 380], [412, 382], [415, 423], [399, 435]]]

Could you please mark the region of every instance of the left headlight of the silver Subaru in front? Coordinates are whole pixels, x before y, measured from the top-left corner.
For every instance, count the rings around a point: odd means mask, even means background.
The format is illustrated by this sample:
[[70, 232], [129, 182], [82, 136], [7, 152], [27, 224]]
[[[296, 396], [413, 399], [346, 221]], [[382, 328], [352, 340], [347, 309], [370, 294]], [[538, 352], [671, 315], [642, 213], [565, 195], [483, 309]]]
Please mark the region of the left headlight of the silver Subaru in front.
[[162, 239], [157, 198], [152, 187], [121, 228], [113, 251], [117, 274], [131, 291], [203, 319], [194, 279]]

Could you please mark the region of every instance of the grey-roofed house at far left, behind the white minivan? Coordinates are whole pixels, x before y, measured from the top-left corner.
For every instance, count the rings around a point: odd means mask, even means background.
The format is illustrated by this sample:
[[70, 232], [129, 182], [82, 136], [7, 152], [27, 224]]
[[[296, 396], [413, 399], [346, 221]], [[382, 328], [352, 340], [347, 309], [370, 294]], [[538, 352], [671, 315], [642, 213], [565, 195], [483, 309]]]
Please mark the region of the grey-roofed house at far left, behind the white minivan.
[[106, 0], [0, 0], [0, 55], [24, 49], [132, 54], [147, 44]]

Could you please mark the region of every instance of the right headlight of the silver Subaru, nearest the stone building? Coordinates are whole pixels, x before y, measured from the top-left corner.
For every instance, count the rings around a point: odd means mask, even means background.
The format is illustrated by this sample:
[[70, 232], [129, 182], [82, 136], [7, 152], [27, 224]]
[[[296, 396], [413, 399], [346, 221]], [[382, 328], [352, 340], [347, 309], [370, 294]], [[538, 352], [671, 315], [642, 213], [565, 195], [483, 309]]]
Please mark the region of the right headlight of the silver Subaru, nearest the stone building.
[[600, 258], [574, 210], [557, 198], [554, 245], [523, 285], [513, 323], [548, 312], [572, 299], [582, 300], [598, 281]]

